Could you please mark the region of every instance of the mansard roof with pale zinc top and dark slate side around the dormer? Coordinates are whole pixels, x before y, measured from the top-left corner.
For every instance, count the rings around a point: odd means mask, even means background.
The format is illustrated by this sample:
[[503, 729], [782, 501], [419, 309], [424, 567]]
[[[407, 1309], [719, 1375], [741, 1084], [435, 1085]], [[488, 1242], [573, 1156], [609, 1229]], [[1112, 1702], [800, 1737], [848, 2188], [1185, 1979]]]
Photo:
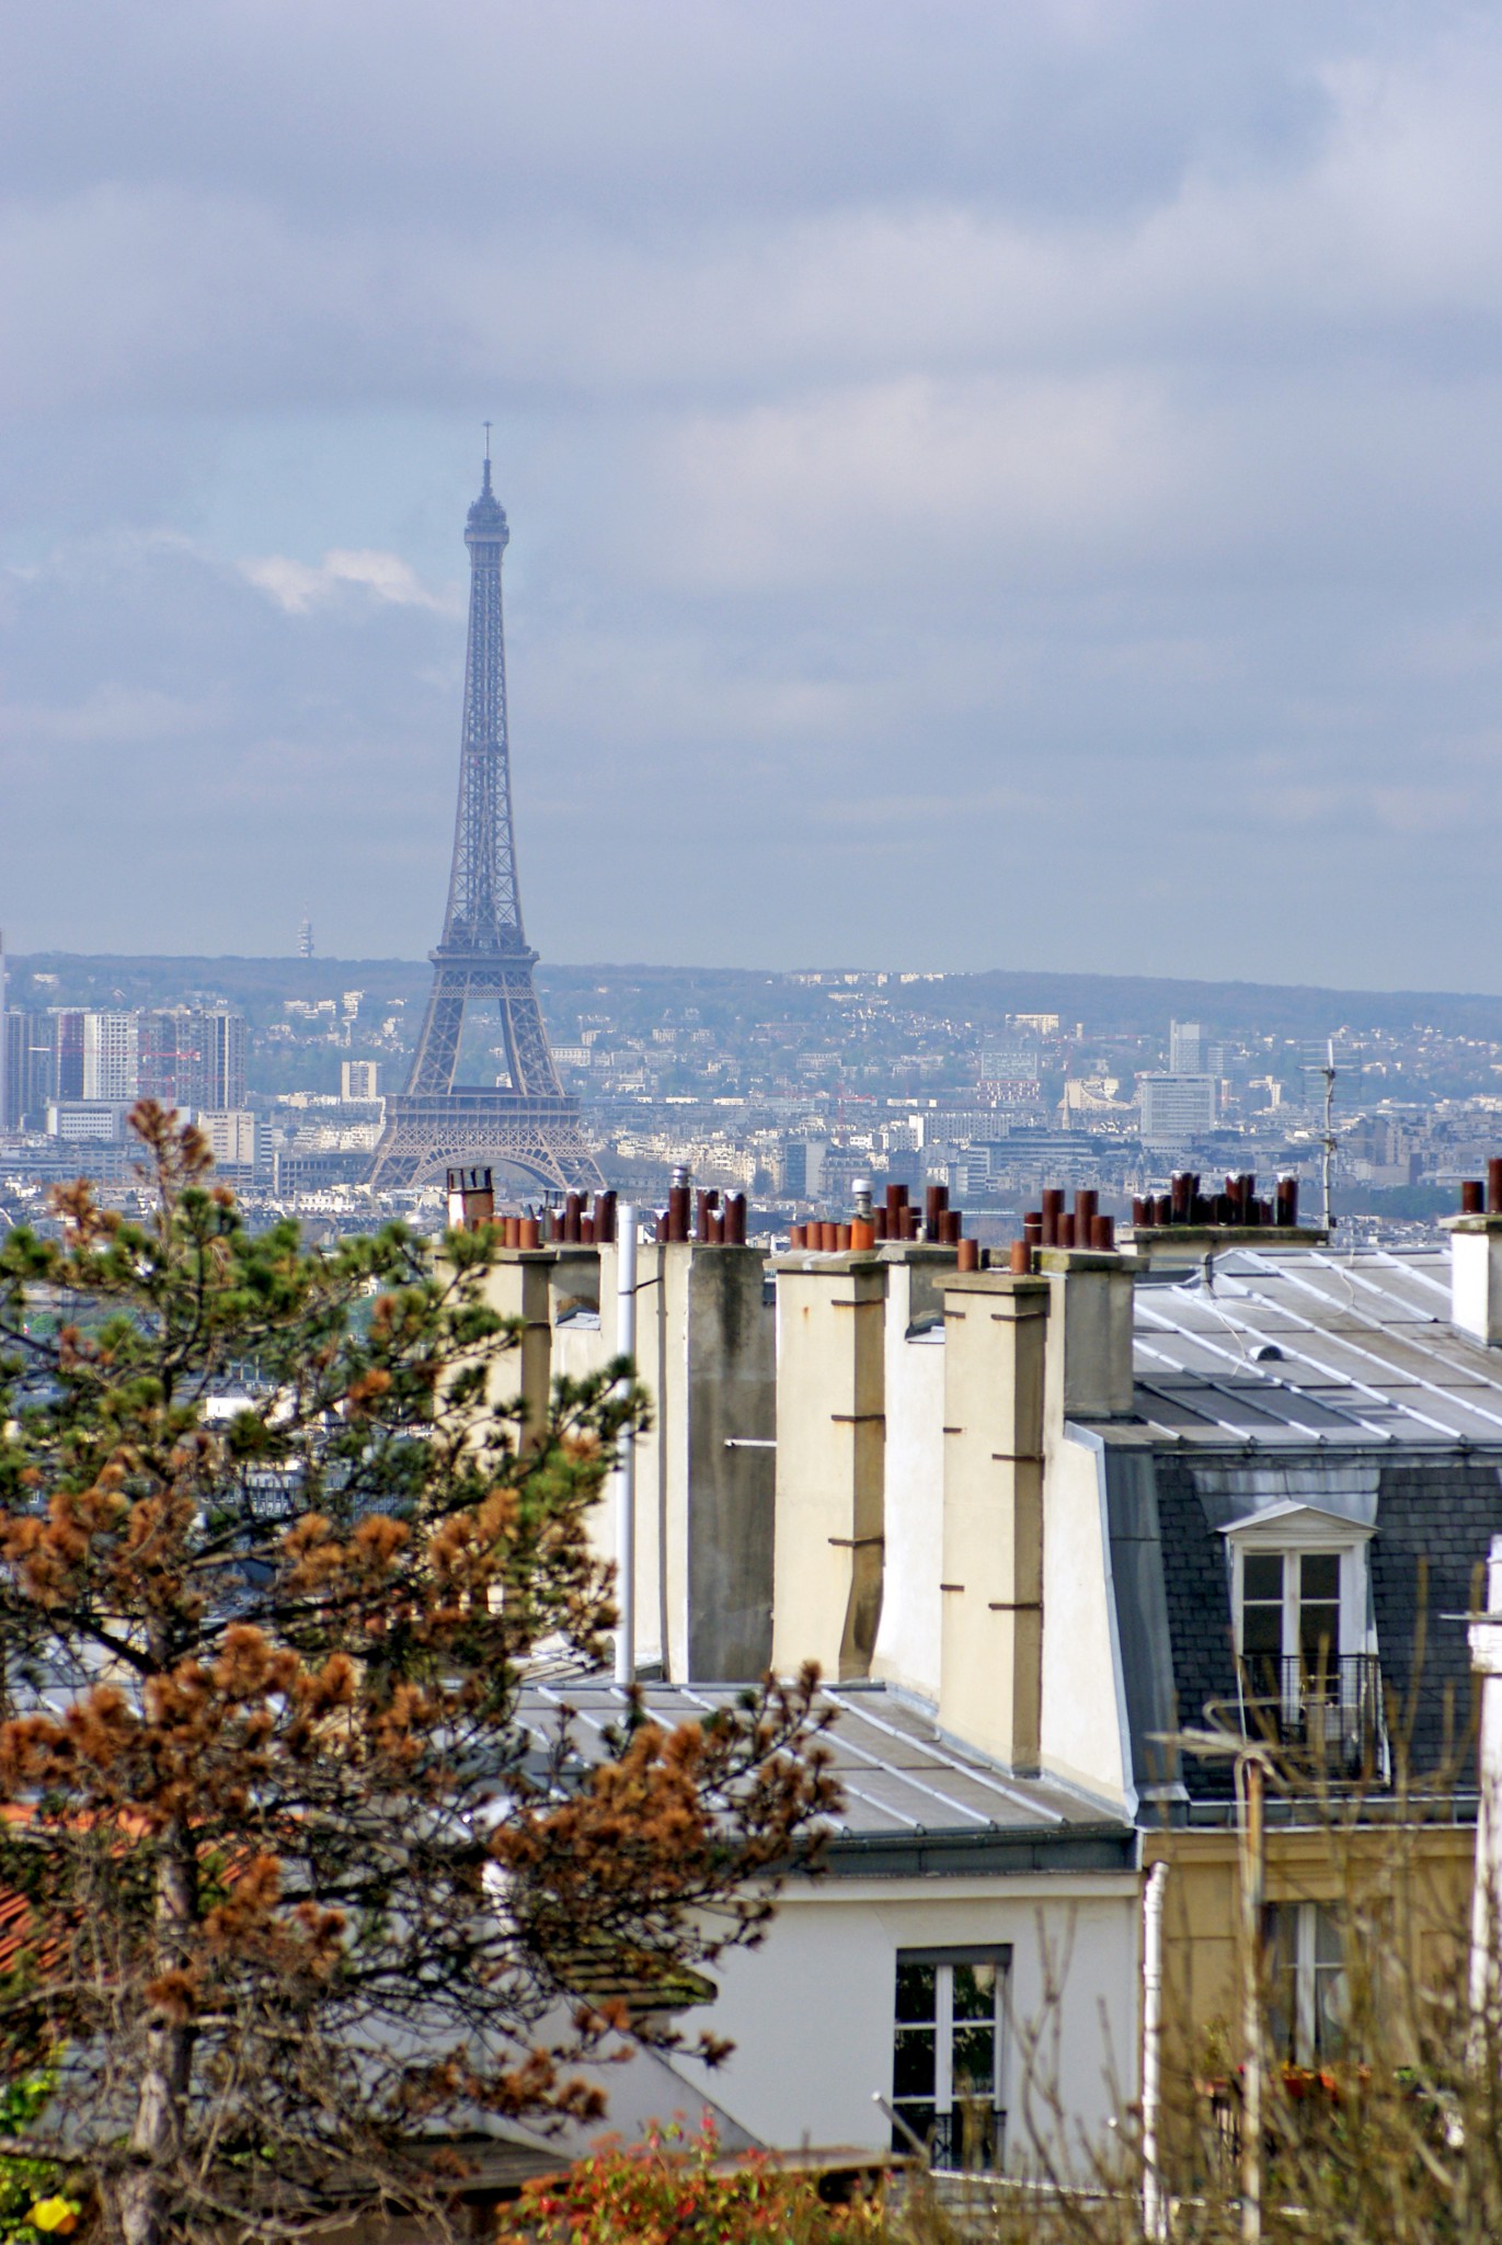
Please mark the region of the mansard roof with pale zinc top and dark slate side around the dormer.
[[1466, 1740], [1466, 1632], [1446, 1616], [1473, 1603], [1502, 1531], [1502, 1349], [1448, 1311], [1446, 1250], [1237, 1248], [1210, 1286], [1134, 1289], [1138, 1421], [1096, 1432], [1141, 1789], [1179, 1776], [1199, 1800], [1228, 1796], [1226, 1760], [1172, 1769], [1161, 1735], [1235, 1699], [1219, 1531], [1289, 1495], [1374, 1524], [1376, 1652], [1414, 1776]]

